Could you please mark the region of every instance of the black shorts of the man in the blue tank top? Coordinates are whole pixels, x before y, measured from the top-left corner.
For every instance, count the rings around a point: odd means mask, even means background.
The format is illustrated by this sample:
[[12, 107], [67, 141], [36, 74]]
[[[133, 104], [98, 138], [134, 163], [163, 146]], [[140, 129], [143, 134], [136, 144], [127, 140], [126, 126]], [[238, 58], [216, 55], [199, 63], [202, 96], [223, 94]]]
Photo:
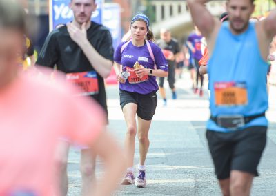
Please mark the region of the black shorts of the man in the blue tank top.
[[251, 173], [257, 166], [266, 146], [266, 126], [252, 126], [231, 133], [206, 131], [210, 154], [217, 179], [227, 179], [231, 170]]

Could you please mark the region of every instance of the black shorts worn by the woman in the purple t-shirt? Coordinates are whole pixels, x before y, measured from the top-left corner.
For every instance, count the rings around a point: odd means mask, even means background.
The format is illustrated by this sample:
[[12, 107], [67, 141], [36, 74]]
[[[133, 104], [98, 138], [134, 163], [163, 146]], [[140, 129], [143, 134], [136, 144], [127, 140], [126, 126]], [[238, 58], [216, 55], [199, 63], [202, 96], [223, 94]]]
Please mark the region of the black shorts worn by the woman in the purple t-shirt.
[[157, 95], [155, 91], [142, 95], [136, 92], [128, 92], [120, 89], [119, 95], [121, 109], [123, 109], [126, 104], [136, 104], [137, 116], [146, 121], [152, 120], [157, 106]]

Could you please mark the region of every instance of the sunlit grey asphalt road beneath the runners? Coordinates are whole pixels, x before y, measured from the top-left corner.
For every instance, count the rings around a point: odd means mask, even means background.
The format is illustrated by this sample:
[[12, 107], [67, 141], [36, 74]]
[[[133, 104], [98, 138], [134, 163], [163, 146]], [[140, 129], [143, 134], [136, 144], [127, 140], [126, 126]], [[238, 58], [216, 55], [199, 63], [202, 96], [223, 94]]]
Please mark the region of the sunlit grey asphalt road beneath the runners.
[[[205, 138], [205, 122], [209, 117], [208, 91], [204, 97], [190, 89], [188, 73], [177, 79], [177, 100], [161, 100], [150, 128], [150, 149], [146, 160], [146, 188], [120, 186], [114, 195], [221, 195], [214, 175]], [[117, 86], [108, 86], [109, 131], [123, 145], [126, 125], [119, 106]], [[167, 90], [168, 98], [171, 97]], [[260, 177], [253, 182], [251, 195], [276, 195], [276, 87], [270, 87], [270, 120], [266, 150], [259, 164]], [[254, 145], [254, 144], [253, 144]], [[135, 164], [138, 163], [138, 148]], [[97, 161], [101, 176], [101, 162]], [[80, 195], [79, 151], [72, 149], [68, 163], [69, 193]]]

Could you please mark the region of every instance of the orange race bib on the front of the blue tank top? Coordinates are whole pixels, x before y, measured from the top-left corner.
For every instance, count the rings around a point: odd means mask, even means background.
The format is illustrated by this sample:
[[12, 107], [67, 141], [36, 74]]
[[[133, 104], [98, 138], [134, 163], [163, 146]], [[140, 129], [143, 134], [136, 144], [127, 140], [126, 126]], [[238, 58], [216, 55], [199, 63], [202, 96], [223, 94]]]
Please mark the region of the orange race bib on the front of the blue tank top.
[[215, 104], [217, 106], [244, 106], [248, 103], [245, 82], [216, 82]]

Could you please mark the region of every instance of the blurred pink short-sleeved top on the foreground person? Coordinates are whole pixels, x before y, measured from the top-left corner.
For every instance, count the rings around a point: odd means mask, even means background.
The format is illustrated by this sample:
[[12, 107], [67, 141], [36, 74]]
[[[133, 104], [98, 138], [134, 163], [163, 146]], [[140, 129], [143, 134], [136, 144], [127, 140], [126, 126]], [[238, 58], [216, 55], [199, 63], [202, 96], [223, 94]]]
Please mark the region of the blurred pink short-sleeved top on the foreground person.
[[105, 124], [94, 101], [72, 88], [20, 75], [0, 89], [0, 195], [51, 195], [59, 137], [88, 145]]

